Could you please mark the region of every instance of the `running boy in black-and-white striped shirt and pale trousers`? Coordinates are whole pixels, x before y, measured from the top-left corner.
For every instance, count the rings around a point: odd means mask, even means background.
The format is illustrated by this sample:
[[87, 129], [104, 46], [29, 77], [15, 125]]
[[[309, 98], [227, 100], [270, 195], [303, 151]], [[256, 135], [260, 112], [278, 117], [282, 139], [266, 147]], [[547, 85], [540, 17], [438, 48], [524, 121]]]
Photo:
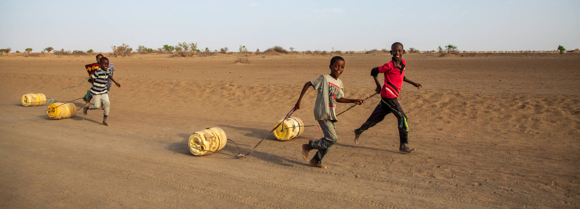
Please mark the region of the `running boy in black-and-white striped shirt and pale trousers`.
[[103, 57], [100, 60], [100, 68], [95, 71], [93, 75], [90, 76], [89, 82], [93, 84], [93, 87], [90, 88], [90, 94], [93, 95], [93, 102], [90, 103], [89, 106], [85, 106], [82, 109], [82, 113], [85, 115], [89, 109], [99, 109], [101, 105], [103, 105], [104, 112], [103, 112], [103, 125], [110, 126], [111, 124], [107, 123], [107, 116], [110, 111], [110, 101], [108, 100], [108, 93], [107, 93], [107, 82], [108, 79], [113, 80], [117, 87], [121, 87], [117, 81], [111, 75], [111, 72], [107, 71], [109, 65], [109, 61], [107, 57]]

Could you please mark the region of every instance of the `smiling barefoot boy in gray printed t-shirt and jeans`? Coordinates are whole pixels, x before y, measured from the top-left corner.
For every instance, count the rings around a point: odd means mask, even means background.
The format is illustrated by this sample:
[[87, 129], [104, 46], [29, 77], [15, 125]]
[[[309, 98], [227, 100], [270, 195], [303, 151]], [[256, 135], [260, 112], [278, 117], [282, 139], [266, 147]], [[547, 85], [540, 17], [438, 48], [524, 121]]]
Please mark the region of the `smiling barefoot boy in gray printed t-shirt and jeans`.
[[339, 56], [332, 57], [329, 67], [330, 74], [321, 75], [317, 79], [306, 82], [300, 93], [300, 98], [298, 98], [298, 102], [294, 106], [296, 110], [300, 109], [300, 101], [302, 101], [302, 96], [304, 96], [308, 87], [312, 86], [318, 91], [316, 104], [314, 104], [314, 119], [318, 120], [322, 133], [324, 133], [324, 138], [320, 138], [318, 141], [310, 140], [308, 144], [303, 144], [302, 157], [308, 161], [308, 153], [310, 150], [318, 149], [316, 155], [310, 160], [310, 164], [321, 168], [326, 168], [326, 166], [322, 166], [321, 164], [322, 157], [326, 155], [328, 149], [338, 140], [336, 137], [336, 126], [334, 125], [338, 121], [335, 115], [336, 102], [359, 105], [364, 102], [361, 99], [343, 98], [345, 94], [342, 91], [342, 80], [338, 79], [338, 76], [345, 71], [345, 59]]

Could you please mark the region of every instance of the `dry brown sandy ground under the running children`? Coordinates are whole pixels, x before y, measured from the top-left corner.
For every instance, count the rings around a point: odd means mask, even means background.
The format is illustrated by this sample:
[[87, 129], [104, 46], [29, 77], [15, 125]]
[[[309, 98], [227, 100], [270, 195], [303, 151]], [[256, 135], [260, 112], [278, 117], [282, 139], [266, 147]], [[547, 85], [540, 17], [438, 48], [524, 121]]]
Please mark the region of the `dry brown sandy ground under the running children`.
[[[305, 82], [328, 74], [330, 56], [239, 55], [111, 57], [122, 87], [102, 110], [52, 120], [47, 105], [86, 78], [92, 56], [0, 56], [0, 207], [2, 208], [578, 208], [580, 205], [580, 54], [529, 57], [405, 55], [400, 102], [410, 146], [398, 152], [396, 118], [352, 130], [378, 97], [339, 116], [339, 141], [309, 166], [298, 138], [272, 135], [247, 157], [193, 156], [187, 138], [220, 127], [249, 151], [293, 107]], [[345, 55], [347, 98], [373, 93], [370, 69], [387, 54]], [[82, 97], [89, 83], [57, 101]], [[309, 90], [293, 116], [316, 124]], [[77, 107], [84, 104], [75, 101]], [[337, 111], [350, 107], [339, 104]], [[318, 137], [321, 133], [318, 133]], [[229, 142], [221, 151], [237, 154]], [[311, 152], [311, 155], [314, 152]]]

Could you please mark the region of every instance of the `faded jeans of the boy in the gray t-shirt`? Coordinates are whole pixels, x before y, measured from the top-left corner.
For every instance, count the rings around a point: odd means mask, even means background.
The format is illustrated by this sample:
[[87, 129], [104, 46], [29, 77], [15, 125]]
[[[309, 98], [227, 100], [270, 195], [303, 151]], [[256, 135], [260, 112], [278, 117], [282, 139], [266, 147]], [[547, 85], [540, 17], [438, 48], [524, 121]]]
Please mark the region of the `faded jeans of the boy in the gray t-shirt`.
[[308, 142], [310, 149], [318, 149], [316, 155], [314, 155], [314, 159], [318, 160], [320, 163], [322, 163], [322, 158], [326, 155], [328, 149], [336, 143], [336, 140], [338, 140], [336, 137], [336, 126], [334, 126], [336, 121], [337, 120], [318, 120], [322, 133], [324, 133], [324, 138], [320, 138], [318, 141], [310, 140]]

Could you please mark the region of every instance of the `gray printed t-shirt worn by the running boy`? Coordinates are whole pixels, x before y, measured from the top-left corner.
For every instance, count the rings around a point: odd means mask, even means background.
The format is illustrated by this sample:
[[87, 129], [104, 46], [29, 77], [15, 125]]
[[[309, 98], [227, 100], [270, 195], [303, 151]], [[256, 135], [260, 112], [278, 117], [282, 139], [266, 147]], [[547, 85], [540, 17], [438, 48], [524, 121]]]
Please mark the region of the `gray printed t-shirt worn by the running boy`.
[[336, 120], [336, 99], [345, 96], [343, 93], [342, 80], [334, 79], [330, 75], [321, 75], [317, 79], [310, 80], [314, 89], [318, 90], [316, 103], [314, 104], [315, 120]]

